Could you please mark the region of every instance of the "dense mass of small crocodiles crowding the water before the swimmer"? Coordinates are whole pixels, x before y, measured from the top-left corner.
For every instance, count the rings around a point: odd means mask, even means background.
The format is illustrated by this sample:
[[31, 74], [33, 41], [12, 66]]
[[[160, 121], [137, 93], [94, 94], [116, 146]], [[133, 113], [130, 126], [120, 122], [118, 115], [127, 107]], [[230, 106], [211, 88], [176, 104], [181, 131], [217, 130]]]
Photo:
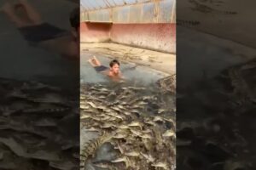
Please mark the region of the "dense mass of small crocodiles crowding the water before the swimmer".
[[[165, 77], [151, 88], [127, 83], [81, 85], [80, 128], [98, 134], [81, 144], [81, 169], [174, 169], [172, 80]], [[98, 159], [97, 150], [104, 143], [113, 150]]]

